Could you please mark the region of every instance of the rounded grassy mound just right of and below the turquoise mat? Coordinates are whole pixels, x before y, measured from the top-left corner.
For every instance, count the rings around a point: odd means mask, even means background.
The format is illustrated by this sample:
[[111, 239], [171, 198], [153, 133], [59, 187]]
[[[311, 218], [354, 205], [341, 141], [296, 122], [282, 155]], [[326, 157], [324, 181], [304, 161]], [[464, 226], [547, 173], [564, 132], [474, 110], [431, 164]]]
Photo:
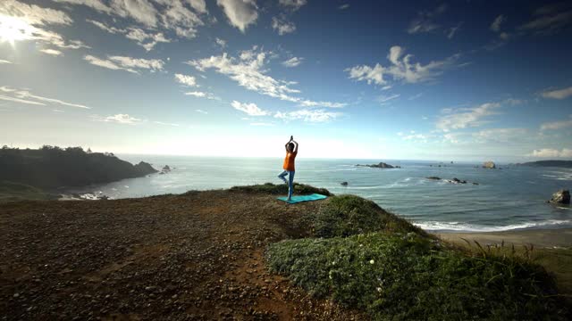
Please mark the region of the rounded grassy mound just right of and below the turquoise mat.
[[317, 237], [345, 237], [382, 230], [426, 235], [425, 231], [407, 220], [355, 195], [331, 197], [317, 213], [310, 216], [310, 220]]

